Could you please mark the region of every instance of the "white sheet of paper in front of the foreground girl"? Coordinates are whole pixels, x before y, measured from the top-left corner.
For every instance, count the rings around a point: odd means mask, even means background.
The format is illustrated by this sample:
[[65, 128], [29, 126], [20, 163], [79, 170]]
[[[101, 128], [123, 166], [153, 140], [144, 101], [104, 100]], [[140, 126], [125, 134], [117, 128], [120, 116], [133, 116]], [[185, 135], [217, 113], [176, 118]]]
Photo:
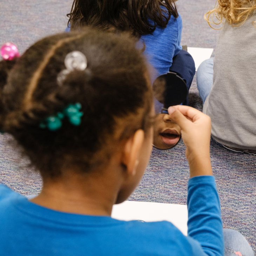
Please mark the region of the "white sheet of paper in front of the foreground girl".
[[124, 201], [113, 206], [111, 216], [124, 221], [169, 221], [184, 235], [188, 232], [188, 210], [182, 204]]

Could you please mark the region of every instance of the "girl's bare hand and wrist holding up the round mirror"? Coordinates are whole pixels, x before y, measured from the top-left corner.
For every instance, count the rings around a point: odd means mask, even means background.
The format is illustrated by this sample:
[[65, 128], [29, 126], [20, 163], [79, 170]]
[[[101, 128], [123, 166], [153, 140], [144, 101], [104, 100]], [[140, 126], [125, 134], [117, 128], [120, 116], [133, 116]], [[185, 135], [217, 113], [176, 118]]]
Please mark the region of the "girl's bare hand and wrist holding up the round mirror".
[[201, 111], [177, 105], [168, 108], [171, 119], [181, 127], [190, 176], [212, 175], [210, 162], [211, 119]]

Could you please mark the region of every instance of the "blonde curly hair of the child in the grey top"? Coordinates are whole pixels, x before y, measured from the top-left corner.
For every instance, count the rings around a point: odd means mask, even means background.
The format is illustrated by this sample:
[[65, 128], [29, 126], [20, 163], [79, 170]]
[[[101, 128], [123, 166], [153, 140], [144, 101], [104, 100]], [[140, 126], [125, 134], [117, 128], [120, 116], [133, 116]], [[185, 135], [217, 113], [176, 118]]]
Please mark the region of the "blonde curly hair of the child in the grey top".
[[[213, 10], [208, 11], [204, 15], [204, 19], [209, 26], [220, 25], [225, 19], [231, 26], [241, 26], [250, 14], [256, 11], [256, 0], [217, 0]], [[256, 21], [252, 22], [256, 27]]]

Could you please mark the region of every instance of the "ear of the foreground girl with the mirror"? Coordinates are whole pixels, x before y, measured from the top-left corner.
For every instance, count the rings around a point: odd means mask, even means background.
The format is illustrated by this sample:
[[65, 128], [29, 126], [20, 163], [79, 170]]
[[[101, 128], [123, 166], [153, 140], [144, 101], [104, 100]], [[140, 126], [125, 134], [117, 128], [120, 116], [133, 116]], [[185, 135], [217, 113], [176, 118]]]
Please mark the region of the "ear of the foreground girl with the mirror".
[[144, 131], [142, 129], [136, 132], [127, 140], [123, 148], [122, 163], [126, 166], [127, 173], [136, 174], [136, 168], [139, 163], [138, 156], [144, 141]]

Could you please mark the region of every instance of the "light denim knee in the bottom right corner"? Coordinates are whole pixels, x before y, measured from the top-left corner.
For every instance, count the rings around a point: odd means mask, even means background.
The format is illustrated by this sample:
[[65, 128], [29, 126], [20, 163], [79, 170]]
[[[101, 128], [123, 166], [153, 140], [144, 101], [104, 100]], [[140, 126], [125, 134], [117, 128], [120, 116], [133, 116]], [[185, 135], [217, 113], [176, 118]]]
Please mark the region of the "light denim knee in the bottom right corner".
[[252, 248], [245, 237], [233, 229], [223, 229], [224, 256], [253, 256]]

